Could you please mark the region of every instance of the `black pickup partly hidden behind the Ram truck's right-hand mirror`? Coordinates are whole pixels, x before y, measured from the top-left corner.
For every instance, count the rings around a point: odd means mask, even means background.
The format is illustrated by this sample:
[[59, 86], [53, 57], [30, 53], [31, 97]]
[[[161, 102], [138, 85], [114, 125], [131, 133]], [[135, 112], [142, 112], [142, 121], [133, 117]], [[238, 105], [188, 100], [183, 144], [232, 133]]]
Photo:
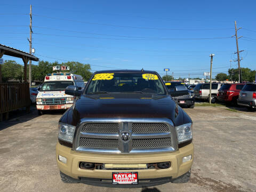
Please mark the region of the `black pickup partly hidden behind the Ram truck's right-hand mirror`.
[[185, 83], [182, 82], [165, 82], [172, 98], [178, 102], [179, 106], [188, 108], [195, 107], [194, 93], [188, 90]]

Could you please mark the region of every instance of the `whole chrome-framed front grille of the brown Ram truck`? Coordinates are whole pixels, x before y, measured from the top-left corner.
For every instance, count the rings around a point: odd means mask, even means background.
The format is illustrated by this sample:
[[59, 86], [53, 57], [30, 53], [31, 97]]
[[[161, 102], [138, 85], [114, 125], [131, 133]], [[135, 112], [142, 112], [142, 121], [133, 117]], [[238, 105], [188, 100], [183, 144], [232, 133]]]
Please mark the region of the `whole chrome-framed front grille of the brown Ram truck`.
[[169, 119], [84, 118], [73, 149], [94, 153], [158, 153], [178, 148]]

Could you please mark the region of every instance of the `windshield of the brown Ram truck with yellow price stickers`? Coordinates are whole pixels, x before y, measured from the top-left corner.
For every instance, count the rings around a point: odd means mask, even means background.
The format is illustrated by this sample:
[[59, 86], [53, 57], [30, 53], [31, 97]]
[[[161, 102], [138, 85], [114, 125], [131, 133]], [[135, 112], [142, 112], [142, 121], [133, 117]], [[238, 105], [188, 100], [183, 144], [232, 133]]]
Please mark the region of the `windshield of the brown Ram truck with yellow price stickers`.
[[86, 94], [155, 93], [166, 94], [161, 78], [156, 74], [101, 73], [89, 82]]

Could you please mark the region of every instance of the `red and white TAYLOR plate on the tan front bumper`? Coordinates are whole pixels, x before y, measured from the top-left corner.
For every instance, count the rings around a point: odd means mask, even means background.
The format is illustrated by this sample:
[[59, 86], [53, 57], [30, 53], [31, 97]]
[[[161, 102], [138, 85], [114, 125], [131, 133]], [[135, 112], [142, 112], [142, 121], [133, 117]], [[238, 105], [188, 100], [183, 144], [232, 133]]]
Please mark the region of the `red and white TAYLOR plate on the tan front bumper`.
[[138, 184], [138, 172], [113, 172], [113, 184]]

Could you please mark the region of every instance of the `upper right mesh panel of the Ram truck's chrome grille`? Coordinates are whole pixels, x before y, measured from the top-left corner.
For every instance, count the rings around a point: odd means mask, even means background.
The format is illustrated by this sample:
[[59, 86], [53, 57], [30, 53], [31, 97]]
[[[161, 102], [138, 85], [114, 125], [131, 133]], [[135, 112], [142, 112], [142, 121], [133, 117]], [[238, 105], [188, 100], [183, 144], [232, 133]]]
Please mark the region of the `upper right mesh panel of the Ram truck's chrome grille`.
[[133, 133], [160, 133], [169, 132], [169, 127], [163, 123], [133, 123]]

